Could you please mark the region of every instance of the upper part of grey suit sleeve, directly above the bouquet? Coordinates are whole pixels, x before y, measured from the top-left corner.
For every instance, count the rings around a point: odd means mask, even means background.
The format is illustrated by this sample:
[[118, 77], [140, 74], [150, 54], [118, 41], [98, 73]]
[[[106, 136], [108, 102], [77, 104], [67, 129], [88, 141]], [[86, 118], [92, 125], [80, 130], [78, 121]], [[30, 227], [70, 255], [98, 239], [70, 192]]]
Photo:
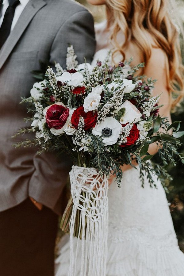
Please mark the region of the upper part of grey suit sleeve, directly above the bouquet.
[[67, 47], [71, 44], [79, 63], [91, 63], [95, 48], [94, 21], [87, 10], [70, 17], [59, 29], [51, 48], [50, 63], [60, 63], [65, 68]]

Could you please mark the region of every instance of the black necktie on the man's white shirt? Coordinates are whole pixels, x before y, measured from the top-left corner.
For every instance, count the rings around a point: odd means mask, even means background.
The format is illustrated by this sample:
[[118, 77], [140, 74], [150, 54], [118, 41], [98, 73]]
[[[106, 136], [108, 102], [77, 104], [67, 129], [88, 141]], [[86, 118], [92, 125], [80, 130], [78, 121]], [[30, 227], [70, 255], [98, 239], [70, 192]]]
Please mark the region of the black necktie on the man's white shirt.
[[20, 4], [19, 0], [10, 0], [0, 28], [0, 49], [8, 38], [15, 13], [15, 8]]

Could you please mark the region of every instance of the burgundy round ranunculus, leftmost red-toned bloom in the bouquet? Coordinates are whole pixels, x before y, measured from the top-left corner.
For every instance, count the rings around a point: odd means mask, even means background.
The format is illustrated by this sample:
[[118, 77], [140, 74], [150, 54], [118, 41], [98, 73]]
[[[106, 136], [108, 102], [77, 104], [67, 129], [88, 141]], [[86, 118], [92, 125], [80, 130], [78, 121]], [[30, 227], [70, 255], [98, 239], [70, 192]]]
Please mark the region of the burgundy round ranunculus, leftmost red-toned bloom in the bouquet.
[[55, 104], [51, 105], [47, 109], [45, 118], [49, 128], [60, 129], [66, 123], [68, 116], [68, 108], [64, 107], [63, 105]]

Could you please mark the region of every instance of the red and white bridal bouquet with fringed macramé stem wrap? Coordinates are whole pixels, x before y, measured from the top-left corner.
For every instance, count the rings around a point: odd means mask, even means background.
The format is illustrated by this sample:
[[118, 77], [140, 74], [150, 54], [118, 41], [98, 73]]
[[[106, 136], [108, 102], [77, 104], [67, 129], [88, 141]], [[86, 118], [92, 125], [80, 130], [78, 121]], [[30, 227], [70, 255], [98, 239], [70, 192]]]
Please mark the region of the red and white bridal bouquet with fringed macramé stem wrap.
[[[71, 157], [72, 197], [61, 226], [65, 232], [71, 232], [71, 247], [73, 236], [83, 242], [88, 240], [89, 244], [95, 242], [96, 247], [89, 245], [89, 259], [103, 260], [104, 267], [109, 175], [115, 175], [120, 186], [121, 165], [132, 165], [135, 158], [142, 185], [146, 174], [150, 186], [154, 186], [151, 174], [154, 165], [148, 163], [153, 156], [148, 148], [155, 142], [163, 165], [168, 162], [175, 165], [176, 156], [184, 163], [177, 151], [180, 146], [177, 138], [184, 134], [178, 131], [180, 122], [170, 125], [166, 117], [159, 116], [159, 95], [152, 97], [155, 80], [135, 75], [144, 64], [131, 68], [130, 60], [111, 66], [110, 58], [109, 52], [105, 61], [97, 61], [95, 67], [89, 63], [78, 65], [73, 47], [68, 47], [67, 69], [56, 64], [54, 73], [48, 68], [45, 79], [34, 84], [31, 96], [22, 98], [33, 117], [31, 126], [17, 133], [35, 133], [32, 140], [17, 146], [39, 146], [39, 153], [64, 151]], [[172, 135], [168, 132], [171, 128]], [[164, 184], [164, 179], [170, 176], [163, 165], [157, 164], [154, 169]], [[89, 269], [94, 275], [104, 275], [102, 263], [96, 267], [91, 263], [93, 268]]]

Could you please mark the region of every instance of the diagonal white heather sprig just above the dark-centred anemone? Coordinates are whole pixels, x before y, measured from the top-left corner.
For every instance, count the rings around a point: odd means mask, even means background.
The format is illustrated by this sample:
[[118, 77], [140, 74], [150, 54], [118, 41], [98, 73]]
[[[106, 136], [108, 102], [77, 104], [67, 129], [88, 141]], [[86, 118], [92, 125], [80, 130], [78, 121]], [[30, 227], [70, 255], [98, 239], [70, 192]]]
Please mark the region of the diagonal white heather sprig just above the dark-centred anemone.
[[102, 122], [105, 117], [111, 115], [112, 117], [115, 117], [118, 113], [118, 110], [120, 109], [120, 106], [122, 105], [123, 100], [123, 89], [118, 89], [113, 93], [113, 97], [106, 102], [106, 104], [102, 107], [102, 109], [98, 112], [98, 118], [97, 118], [97, 124]]

